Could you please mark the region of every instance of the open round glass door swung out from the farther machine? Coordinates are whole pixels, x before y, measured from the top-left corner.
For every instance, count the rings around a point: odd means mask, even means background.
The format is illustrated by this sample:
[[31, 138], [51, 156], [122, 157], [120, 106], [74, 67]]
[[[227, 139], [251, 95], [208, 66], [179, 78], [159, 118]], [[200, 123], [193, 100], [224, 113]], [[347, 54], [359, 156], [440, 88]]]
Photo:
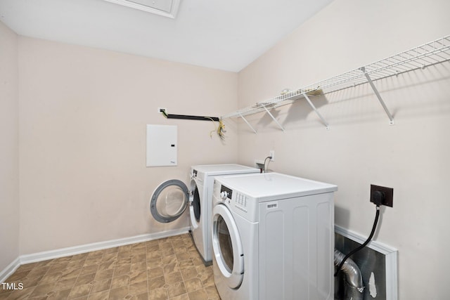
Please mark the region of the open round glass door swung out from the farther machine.
[[150, 212], [156, 221], [169, 223], [178, 219], [189, 204], [189, 191], [179, 180], [161, 183], [150, 200]]

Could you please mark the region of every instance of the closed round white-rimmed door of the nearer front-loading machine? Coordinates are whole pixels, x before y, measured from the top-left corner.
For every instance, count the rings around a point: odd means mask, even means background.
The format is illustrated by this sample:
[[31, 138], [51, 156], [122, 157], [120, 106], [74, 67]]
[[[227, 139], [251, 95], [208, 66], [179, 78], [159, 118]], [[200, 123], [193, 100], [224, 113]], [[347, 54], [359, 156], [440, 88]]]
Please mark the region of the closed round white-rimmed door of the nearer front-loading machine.
[[237, 289], [244, 277], [244, 253], [238, 226], [225, 205], [216, 205], [212, 214], [214, 257], [229, 287]]

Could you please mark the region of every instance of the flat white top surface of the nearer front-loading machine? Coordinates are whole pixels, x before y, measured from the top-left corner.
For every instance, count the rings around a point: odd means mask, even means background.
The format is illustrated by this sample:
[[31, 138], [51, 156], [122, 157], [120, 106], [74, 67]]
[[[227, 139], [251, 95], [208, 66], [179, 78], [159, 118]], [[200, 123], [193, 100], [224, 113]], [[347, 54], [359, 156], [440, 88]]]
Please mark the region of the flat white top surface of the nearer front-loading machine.
[[259, 201], [330, 193], [338, 190], [337, 185], [279, 173], [220, 176], [216, 177], [216, 180], [227, 188], [231, 188], [233, 192], [245, 193]]

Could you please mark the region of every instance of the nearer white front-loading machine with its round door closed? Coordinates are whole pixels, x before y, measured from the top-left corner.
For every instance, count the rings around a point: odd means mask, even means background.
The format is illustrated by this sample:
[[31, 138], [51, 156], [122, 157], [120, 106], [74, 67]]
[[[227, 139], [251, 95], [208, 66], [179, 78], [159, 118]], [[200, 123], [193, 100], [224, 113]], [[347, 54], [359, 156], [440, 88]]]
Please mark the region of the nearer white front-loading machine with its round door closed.
[[277, 173], [216, 177], [212, 249], [221, 299], [332, 300], [335, 190]]

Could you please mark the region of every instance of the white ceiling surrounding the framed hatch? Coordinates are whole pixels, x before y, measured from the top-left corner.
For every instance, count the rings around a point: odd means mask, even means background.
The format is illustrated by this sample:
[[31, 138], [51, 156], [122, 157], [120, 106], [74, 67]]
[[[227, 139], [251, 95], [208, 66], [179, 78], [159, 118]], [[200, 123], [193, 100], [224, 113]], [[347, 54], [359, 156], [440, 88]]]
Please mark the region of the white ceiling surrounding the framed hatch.
[[0, 0], [20, 35], [238, 72], [333, 0], [181, 0], [175, 19], [103, 0]]

